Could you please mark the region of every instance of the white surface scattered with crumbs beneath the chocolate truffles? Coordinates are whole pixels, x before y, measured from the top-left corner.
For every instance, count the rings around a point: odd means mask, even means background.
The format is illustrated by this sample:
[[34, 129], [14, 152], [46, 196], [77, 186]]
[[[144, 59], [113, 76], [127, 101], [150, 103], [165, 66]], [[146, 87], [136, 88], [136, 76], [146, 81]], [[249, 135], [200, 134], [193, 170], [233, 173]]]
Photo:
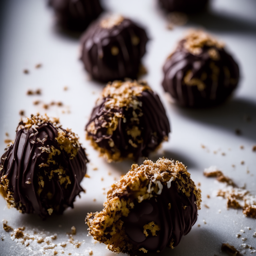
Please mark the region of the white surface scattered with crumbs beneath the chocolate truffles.
[[[66, 232], [71, 226], [77, 228], [74, 237], [79, 241], [85, 240], [79, 249], [73, 245], [64, 248], [65, 253], [58, 255], [114, 255], [105, 250], [105, 245], [94, 244], [91, 237], [87, 237], [87, 226], [84, 219], [87, 212], [100, 211], [106, 195], [106, 188], [121, 174], [126, 173], [132, 162], [125, 161], [117, 164], [107, 164], [98, 157], [98, 153], [85, 141], [84, 126], [89, 118], [94, 102], [102, 85], [90, 81], [78, 60], [79, 40], [58, 32], [54, 27], [53, 13], [46, 7], [43, 0], [8, 0], [5, 1], [4, 16], [0, 41], [0, 148], [4, 152], [5, 133], [14, 138], [15, 129], [19, 121], [19, 111], [31, 113], [45, 113], [60, 117], [63, 127], [72, 128], [80, 136], [86, 147], [90, 159], [88, 175], [82, 181], [86, 194], [77, 198], [74, 209], [68, 209], [62, 216], [52, 216], [42, 221], [38, 216], [20, 214], [16, 209], [5, 207], [5, 201], [0, 198], [0, 220], [8, 220], [8, 224], [17, 228], [25, 226], [26, 230], [43, 229], [51, 234], [57, 233], [56, 243], [67, 240]], [[176, 27], [170, 31], [166, 29], [166, 20], [156, 7], [154, 0], [106, 0], [105, 5], [112, 12], [121, 13], [143, 24], [152, 39], [148, 43], [147, 54], [143, 60], [148, 69], [145, 79], [156, 90], [162, 99], [169, 120], [172, 133], [168, 143], [154, 155], [168, 157], [182, 161], [188, 166], [192, 179], [201, 182], [202, 206], [198, 221], [191, 232], [183, 237], [179, 246], [174, 250], [167, 248], [157, 255], [222, 255], [220, 251], [223, 242], [229, 242], [237, 248], [244, 242], [236, 238], [240, 229], [245, 233], [245, 243], [256, 247], [256, 220], [245, 218], [241, 210], [227, 211], [224, 199], [216, 198], [215, 191], [221, 184], [203, 176], [204, 168], [216, 165], [223, 172], [232, 177], [239, 186], [247, 185], [247, 189], [256, 194], [256, 153], [252, 146], [256, 144], [256, 1], [253, 0], [215, 0], [212, 14], [192, 17], [183, 27]], [[174, 49], [178, 39], [191, 27], [204, 27], [212, 34], [225, 41], [230, 52], [240, 64], [241, 83], [234, 98], [227, 104], [206, 110], [185, 110], [171, 105], [164, 97], [161, 81], [162, 66], [165, 58]], [[42, 63], [42, 68], [35, 69], [35, 65]], [[23, 73], [29, 69], [28, 75]], [[64, 91], [68, 86], [68, 91]], [[41, 96], [27, 96], [28, 89], [42, 89]], [[45, 111], [41, 105], [34, 106], [33, 101], [44, 103], [61, 101], [64, 107], [51, 107]], [[70, 114], [63, 114], [62, 110], [70, 109]], [[252, 121], [245, 121], [245, 115], [250, 115]], [[241, 129], [242, 135], [235, 135], [235, 129]], [[206, 146], [202, 149], [201, 144]], [[243, 145], [244, 149], [240, 149]], [[217, 154], [213, 151], [218, 150]], [[221, 153], [226, 153], [223, 156]], [[241, 161], [245, 161], [241, 165]], [[235, 164], [233, 168], [231, 165]], [[93, 168], [98, 170], [94, 171]], [[247, 174], [247, 168], [250, 173]], [[111, 175], [108, 175], [108, 173]], [[253, 176], [254, 174], [254, 176]], [[101, 181], [101, 177], [104, 181]], [[206, 195], [211, 195], [210, 199]], [[93, 199], [96, 199], [96, 202]], [[221, 213], [219, 213], [221, 210]], [[206, 221], [204, 224], [203, 220]], [[201, 226], [198, 227], [197, 224]], [[62, 225], [62, 227], [59, 227]], [[250, 227], [251, 230], [245, 227]], [[0, 255], [41, 255], [34, 249], [28, 251], [22, 245], [12, 241], [10, 234], [0, 227]], [[249, 255], [250, 250], [245, 251]], [[53, 250], [47, 250], [53, 255]], [[253, 255], [253, 254], [252, 254]], [[121, 256], [121, 254], [120, 254]]]

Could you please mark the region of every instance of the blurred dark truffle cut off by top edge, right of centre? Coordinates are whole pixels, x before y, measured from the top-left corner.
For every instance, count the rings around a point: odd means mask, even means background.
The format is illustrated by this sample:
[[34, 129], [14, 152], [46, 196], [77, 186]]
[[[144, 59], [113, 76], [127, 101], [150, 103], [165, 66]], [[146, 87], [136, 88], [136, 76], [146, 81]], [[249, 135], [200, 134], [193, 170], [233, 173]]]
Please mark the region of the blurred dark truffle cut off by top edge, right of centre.
[[209, 0], [158, 0], [168, 12], [196, 13], [206, 8]]

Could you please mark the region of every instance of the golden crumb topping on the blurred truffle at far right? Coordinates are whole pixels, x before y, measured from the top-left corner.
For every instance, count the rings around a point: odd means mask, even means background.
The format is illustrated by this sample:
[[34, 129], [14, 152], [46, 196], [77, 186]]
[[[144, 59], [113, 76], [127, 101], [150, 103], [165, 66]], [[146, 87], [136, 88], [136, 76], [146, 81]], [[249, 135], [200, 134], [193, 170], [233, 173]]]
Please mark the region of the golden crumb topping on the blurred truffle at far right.
[[[192, 30], [185, 37], [184, 48], [194, 55], [200, 54], [204, 46], [221, 49], [224, 47], [224, 43], [217, 41], [202, 30]], [[218, 59], [218, 52], [216, 50], [210, 49], [209, 55], [213, 59]]]

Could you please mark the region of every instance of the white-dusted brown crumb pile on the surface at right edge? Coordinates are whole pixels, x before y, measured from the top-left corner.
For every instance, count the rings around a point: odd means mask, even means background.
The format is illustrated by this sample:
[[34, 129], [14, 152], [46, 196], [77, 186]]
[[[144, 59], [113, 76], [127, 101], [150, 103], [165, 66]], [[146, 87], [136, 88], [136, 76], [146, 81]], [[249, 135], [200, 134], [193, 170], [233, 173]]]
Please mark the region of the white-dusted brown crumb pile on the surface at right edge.
[[243, 209], [243, 214], [247, 217], [256, 218], [256, 197], [251, 195], [248, 190], [238, 188], [234, 182], [223, 175], [216, 167], [211, 166], [205, 169], [206, 177], [217, 177], [219, 182], [225, 182], [227, 187], [220, 189], [217, 196], [227, 199], [227, 208]]

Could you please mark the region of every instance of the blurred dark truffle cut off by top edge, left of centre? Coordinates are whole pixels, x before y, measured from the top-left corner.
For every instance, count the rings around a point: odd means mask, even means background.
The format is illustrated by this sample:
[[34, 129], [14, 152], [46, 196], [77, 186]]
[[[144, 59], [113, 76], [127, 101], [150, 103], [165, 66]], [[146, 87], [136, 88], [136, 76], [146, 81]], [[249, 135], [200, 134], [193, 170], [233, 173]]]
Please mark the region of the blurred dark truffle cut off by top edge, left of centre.
[[83, 31], [103, 11], [99, 0], [49, 0], [64, 28]]

